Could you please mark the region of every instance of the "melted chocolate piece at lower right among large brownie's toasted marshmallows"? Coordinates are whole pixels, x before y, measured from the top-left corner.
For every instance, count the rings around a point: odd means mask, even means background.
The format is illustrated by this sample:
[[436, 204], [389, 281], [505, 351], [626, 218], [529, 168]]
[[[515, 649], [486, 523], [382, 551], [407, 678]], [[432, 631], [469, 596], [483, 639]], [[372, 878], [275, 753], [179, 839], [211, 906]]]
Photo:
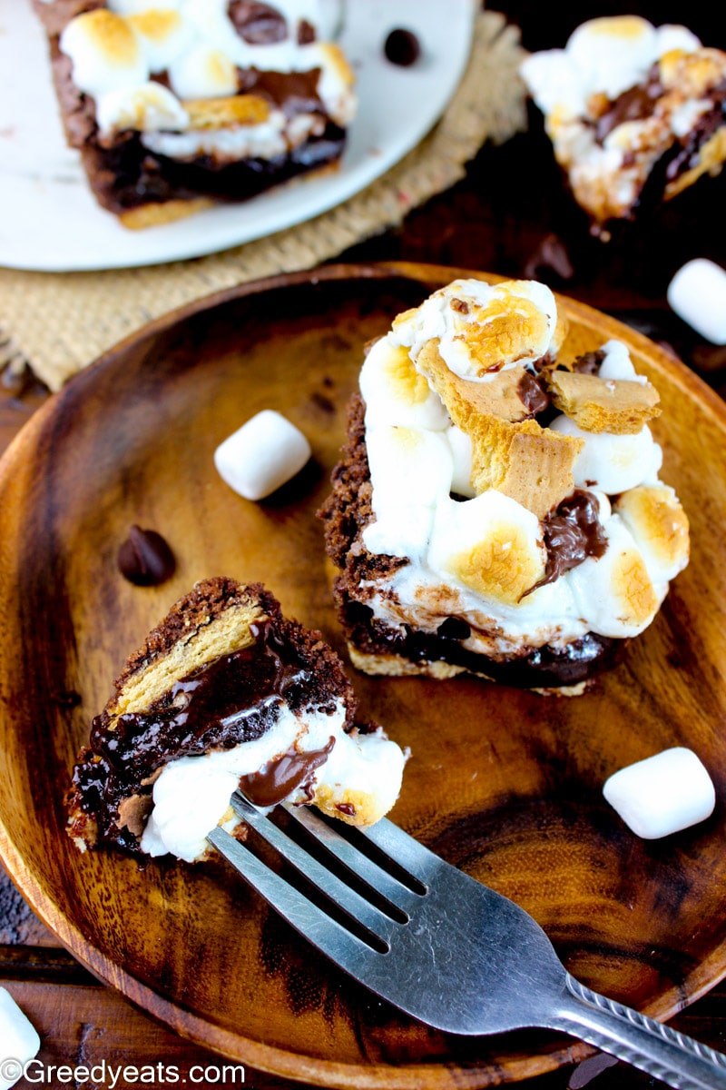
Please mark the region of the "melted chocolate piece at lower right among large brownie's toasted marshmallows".
[[607, 548], [607, 537], [599, 519], [598, 500], [590, 492], [575, 492], [544, 520], [544, 544], [547, 562], [544, 577], [527, 594], [538, 586], [554, 583], [555, 579], [587, 560], [589, 556], [602, 556]]

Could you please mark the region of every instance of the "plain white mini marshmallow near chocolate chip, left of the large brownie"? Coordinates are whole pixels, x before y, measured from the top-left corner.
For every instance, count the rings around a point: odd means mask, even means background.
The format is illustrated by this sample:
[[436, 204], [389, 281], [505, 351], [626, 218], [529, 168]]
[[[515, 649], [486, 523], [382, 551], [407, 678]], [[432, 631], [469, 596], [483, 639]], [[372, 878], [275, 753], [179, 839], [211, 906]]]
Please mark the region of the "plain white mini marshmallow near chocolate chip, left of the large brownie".
[[220, 444], [214, 465], [245, 499], [263, 499], [294, 477], [310, 453], [299, 428], [273, 409], [263, 409]]

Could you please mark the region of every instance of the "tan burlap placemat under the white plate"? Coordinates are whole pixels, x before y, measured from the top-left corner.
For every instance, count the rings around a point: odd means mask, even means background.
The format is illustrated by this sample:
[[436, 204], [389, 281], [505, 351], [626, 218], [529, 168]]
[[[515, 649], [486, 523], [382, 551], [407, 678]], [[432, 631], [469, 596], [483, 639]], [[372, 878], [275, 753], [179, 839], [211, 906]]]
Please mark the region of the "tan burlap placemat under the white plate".
[[312, 268], [402, 222], [464, 177], [487, 142], [526, 124], [519, 29], [482, 11], [464, 78], [432, 132], [370, 186], [298, 227], [208, 257], [103, 272], [0, 269], [0, 364], [58, 390], [101, 352], [184, 303], [258, 277]]

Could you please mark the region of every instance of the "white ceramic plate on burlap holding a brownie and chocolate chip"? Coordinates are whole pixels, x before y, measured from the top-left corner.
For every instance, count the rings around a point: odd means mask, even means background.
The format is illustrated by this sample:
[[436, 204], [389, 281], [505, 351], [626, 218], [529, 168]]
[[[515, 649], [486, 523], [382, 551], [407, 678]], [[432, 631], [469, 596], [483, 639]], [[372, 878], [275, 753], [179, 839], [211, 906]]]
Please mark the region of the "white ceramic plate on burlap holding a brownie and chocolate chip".
[[[466, 68], [472, 0], [348, 0], [341, 38], [359, 112], [341, 169], [176, 223], [128, 231], [98, 207], [65, 146], [46, 40], [29, 0], [0, 0], [0, 264], [42, 271], [123, 268], [216, 253], [346, 201], [429, 132]], [[416, 33], [410, 68], [383, 56], [396, 26]]]

